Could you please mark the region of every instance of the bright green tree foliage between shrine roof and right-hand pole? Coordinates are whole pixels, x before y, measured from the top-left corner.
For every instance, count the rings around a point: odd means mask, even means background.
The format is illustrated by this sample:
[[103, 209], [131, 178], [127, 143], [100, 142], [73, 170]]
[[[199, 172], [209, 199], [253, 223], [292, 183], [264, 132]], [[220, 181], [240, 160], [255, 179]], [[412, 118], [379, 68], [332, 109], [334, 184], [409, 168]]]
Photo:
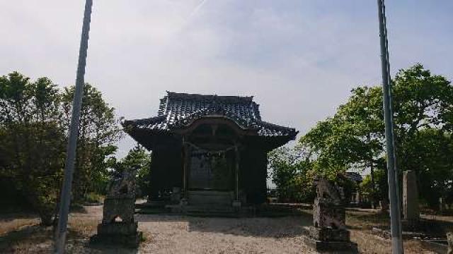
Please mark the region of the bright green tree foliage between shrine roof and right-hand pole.
[[321, 174], [335, 176], [352, 164], [369, 167], [383, 151], [382, 119], [382, 91], [358, 87], [333, 118], [319, 122], [299, 143], [316, 155]]

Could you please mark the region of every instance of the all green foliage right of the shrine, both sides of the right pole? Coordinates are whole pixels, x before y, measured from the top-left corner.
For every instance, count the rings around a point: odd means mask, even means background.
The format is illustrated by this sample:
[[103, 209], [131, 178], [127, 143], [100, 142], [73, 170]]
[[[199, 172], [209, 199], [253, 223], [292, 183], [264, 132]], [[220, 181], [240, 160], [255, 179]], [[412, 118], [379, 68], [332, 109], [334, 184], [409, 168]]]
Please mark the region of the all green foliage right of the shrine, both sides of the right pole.
[[[397, 73], [392, 92], [398, 169], [415, 170], [421, 198], [435, 206], [453, 180], [453, 87], [445, 77], [417, 64]], [[321, 174], [333, 176], [354, 167], [372, 169], [373, 176], [375, 170], [385, 169], [382, 88], [352, 90], [348, 102], [299, 144], [312, 152], [314, 169]], [[377, 188], [372, 193], [385, 198], [386, 183], [377, 180], [369, 184]]]

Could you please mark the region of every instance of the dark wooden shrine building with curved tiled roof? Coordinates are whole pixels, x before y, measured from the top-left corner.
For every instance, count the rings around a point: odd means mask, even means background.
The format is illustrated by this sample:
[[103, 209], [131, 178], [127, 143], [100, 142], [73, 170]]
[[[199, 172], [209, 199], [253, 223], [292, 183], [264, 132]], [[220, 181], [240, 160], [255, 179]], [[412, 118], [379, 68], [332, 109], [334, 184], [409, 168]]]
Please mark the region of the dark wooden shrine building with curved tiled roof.
[[261, 120], [253, 97], [167, 92], [159, 113], [122, 122], [151, 150], [150, 200], [173, 194], [188, 205], [265, 202], [267, 154], [294, 140], [294, 128]]

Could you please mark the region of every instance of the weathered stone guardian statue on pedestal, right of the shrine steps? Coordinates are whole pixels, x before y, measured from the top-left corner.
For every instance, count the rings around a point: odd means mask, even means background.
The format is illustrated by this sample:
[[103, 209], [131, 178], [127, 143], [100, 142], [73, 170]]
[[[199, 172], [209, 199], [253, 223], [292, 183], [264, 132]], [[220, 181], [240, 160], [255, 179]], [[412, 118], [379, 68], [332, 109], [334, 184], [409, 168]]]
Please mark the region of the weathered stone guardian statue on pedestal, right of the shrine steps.
[[309, 227], [307, 243], [317, 251], [348, 251], [357, 253], [357, 244], [350, 241], [345, 226], [345, 197], [343, 188], [336, 183], [316, 177], [316, 199], [313, 206], [313, 223]]

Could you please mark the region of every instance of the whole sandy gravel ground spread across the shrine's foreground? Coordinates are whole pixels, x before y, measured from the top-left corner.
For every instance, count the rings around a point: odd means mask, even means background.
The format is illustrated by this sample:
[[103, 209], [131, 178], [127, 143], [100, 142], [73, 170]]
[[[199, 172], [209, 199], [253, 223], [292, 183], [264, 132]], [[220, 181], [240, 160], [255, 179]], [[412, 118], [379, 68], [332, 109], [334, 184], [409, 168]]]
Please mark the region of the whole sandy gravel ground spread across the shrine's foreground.
[[[139, 250], [89, 246], [102, 219], [102, 206], [85, 207], [69, 218], [67, 253], [315, 253], [303, 241], [311, 216], [278, 218], [210, 218], [178, 215], [137, 215], [145, 241]], [[370, 211], [348, 212], [351, 240], [360, 253], [391, 253], [390, 241], [370, 234], [380, 217]], [[352, 214], [356, 214], [352, 217]], [[372, 217], [374, 218], [374, 217]], [[0, 253], [52, 253], [52, 229], [38, 226], [30, 214], [0, 216]], [[432, 253], [417, 241], [405, 241], [406, 253]]]

